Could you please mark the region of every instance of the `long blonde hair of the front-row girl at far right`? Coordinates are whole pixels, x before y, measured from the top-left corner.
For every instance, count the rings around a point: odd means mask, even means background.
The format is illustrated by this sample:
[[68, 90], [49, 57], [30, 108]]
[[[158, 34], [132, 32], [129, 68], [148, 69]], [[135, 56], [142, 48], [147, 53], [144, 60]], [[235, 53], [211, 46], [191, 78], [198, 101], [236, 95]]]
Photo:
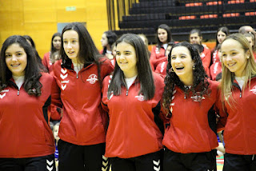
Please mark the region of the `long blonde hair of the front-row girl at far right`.
[[[242, 34], [230, 34], [230, 36], [226, 37], [223, 42], [225, 42], [228, 39], [233, 39], [237, 42], [239, 42], [245, 51], [249, 50], [249, 58], [246, 60], [246, 75], [245, 75], [245, 84], [242, 87], [242, 93], [244, 93], [244, 90], [248, 84], [247, 81], [249, 81], [249, 86], [250, 86], [250, 79], [252, 76], [256, 75], [256, 63], [254, 61], [254, 54], [252, 52], [252, 49], [250, 47], [249, 42], [247, 41], [246, 37]], [[222, 43], [223, 43], [222, 42]], [[246, 58], [246, 57], [245, 57]], [[223, 64], [222, 62], [222, 100], [223, 102], [226, 101], [229, 105], [234, 105], [235, 101], [234, 98], [232, 97], [232, 91], [233, 91], [233, 82], [234, 82], [234, 73], [230, 72], [228, 68]]]

